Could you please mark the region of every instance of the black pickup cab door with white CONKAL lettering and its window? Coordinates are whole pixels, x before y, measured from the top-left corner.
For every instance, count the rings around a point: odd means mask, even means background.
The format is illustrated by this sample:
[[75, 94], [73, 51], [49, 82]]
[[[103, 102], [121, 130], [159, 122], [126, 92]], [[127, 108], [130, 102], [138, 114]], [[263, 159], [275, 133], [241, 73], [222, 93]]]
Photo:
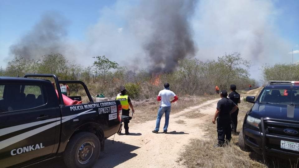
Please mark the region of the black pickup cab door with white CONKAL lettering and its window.
[[55, 93], [52, 97], [43, 83], [0, 84], [1, 88], [0, 167], [23, 165], [55, 153], [61, 122]]

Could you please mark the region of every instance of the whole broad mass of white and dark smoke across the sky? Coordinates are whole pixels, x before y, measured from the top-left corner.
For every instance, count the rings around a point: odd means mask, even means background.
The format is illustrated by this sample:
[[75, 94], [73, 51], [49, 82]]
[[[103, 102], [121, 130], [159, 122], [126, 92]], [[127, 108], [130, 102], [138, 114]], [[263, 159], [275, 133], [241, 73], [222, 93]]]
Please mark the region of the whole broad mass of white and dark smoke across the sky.
[[73, 19], [74, 26], [86, 26], [86, 31], [72, 30], [83, 39], [68, 40], [67, 22], [52, 12], [10, 52], [26, 58], [57, 52], [85, 66], [105, 55], [120, 66], [156, 73], [174, 70], [179, 59], [189, 56], [204, 61], [240, 52], [252, 61], [250, 73], [258, 78], [263, 63], [289, 62], [292, 46], [278, 25], [288, 18], [281, 12], [273, 1], [116, 0], [99, 10], [94, 25]]

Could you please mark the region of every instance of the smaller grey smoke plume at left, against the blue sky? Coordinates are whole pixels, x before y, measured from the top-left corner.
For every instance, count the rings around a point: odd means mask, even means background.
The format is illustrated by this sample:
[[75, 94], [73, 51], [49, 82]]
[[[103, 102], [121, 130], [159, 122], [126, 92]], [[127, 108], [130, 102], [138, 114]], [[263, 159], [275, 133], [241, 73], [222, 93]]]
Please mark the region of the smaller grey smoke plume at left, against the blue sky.
[[64, 54], [67, 21], [58, 14], [47, 13], [17, 44], [10, 46], [14, 56], [36, 59], [50, 53]]

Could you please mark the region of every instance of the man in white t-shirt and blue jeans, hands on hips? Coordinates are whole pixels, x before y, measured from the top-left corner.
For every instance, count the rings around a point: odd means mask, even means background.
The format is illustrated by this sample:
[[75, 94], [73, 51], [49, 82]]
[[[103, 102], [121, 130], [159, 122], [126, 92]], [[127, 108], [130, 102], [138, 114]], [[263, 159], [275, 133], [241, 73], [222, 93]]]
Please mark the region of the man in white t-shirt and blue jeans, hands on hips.
[[[170, 101], [170, 99], [172, 99]], [[178, 96], [176, 96], [173, 91], [169, 90], [169, 84], [164, 84], [164, 90], [159, 92], [157, 96], [157, 101], [161, 101], [160, 108], [158, 110], [157, 120], [156, 120], [156, 128], [152, 131], [153, 133], [158, 133], [160, 128], [160, 121], [165, 113], [165, 124], [163, 127], [163, 132], [167, 133], [168, 123], [169, 123], [169, 114], [170, 114], [170, 104], [177, 101]]]

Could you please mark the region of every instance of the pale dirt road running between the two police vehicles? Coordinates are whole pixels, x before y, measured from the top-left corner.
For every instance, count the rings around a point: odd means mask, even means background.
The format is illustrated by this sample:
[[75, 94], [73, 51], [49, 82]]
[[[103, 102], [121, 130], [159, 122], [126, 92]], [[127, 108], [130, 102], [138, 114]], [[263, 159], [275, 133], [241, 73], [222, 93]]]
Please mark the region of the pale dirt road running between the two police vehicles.
[[[257, 91], [251, 90], [242, 96], [249, 96]], [[177, 162], [180, 152], [191, 138], [208, 138], [203, 125], [211, 121], [218, 100], [220, 97], [170, 114], [168, 134], [163, 133], [164, 118], [158, 134], [152, 133], [155, 120], [142, 124], [131, 122], [129, 135], [116, 134], [114, 142], [113, 137], [105, 141], [105, 150], [94, 167], [184, 167]], [[43, 167], [64, 167], [61, 158], [41, 164]], [[40, 164], [35, 167], [39, 166]]]

